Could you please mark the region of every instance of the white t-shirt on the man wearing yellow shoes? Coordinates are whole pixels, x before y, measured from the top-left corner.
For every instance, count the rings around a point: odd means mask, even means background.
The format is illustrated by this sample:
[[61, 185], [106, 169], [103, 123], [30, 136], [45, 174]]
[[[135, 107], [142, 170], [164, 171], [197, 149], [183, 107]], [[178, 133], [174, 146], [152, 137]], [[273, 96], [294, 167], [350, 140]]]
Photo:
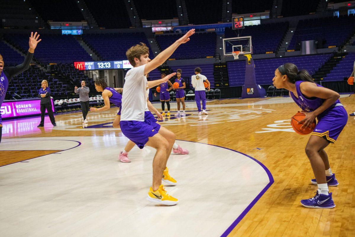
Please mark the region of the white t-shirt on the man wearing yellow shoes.
[[145, 66], [132, 68], [126, 74], [122, 93], [121, 121], [144, 122], [148, 85], [147, 77], [144, 76]]

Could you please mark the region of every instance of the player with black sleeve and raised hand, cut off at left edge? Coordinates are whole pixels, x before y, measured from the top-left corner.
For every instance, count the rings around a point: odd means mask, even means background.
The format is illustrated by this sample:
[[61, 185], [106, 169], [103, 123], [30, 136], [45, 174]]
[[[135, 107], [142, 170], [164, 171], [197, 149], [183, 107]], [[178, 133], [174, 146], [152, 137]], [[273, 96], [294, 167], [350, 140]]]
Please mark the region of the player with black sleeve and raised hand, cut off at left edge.
[[[31, 37], [29, 37], [29, 42], [28, 42], [29, 49], [26, 58], [24, 59], [22, 64], [17, 65], [15, 67], [9, 67], [4, 69], [4, 64], [5, 64], [4, 58], [2, 58], [2, 55], [0, 54], [0, 107], [2, 102], [5, 99], [7, 87], [9, 87], [9, 82], [11, 81], [12, 77], [20, 74], [23, 71], [26, 71], [29, 68], [29, 64], [32, 61], [34, 49], [37, 47], [37, 44], [41, 40], [42, 39], [39, 39], [39, 34], [37, 35], [37, 32], [35, 32], [34, 34], [33, 32], [31, 32]], [[1, 135], [2, 135], [2, 120], [1, 120], [1, 113], [0, 113], [0, 142], [1, 142]]]

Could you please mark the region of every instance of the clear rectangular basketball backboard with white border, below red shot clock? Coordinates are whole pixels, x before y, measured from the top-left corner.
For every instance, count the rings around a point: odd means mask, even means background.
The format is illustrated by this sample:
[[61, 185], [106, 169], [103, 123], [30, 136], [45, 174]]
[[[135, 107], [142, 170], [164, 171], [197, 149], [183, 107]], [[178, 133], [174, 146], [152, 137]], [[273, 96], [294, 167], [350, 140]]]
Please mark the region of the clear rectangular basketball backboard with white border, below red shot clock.
[[240, 55], [252, 54], [253, 46], [251, 44], [251, 36], [223, 39], [224, 56], [232, 56], [233, 51], [240, 51]]

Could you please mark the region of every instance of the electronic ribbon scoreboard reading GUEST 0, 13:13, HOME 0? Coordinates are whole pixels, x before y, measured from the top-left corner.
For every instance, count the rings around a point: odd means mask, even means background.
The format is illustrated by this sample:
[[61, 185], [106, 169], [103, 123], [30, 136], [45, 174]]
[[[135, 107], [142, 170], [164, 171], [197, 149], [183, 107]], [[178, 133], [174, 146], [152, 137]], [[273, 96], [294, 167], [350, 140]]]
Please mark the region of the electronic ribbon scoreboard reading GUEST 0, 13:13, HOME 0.
[[128, 60], [74, 62], [74, 66], [78, 70], [105, 70], [105, 69], [128, 69], [128, 68], [133, 68]]

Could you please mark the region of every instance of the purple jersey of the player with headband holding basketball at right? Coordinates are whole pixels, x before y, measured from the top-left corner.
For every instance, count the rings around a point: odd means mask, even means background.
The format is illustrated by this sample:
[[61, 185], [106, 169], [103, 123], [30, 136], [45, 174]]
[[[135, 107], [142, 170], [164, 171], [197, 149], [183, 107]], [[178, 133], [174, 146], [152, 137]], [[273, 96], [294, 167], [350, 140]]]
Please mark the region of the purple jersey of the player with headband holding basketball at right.
[[[291, 97], [293, 98], [293, 100], [296, 102], [296, 104], [303, 110], [306, 112], [313, 112], [315, 111], [317, 108], [319, 108], [325, 99], [321, 99], [321, 98], [306, 98], [306, 96], [304, 96], [300, 90], [300, 84], [304, 82], [304, 81], [296, 81], [295, 86], [296, 86], [296, 91], [297, 91], [297, 95], [298, 98], [294, 95], [293, 92], [290, 91]], [[323, 87], [321, 85], [316, 84], [318, 87]], [[340, 104], [339, 99], [337, 101], [334, 102], [334, 104], [329, 107], [333, 108], [336, 104]], [[327, 113], [328, 109], [326, 109], [326, 111], [324, 111], [323, 113], [321, 113], [320, 115], [317, 116], [317, 118], [321, 118], [323, 117], [324, 114]]]

